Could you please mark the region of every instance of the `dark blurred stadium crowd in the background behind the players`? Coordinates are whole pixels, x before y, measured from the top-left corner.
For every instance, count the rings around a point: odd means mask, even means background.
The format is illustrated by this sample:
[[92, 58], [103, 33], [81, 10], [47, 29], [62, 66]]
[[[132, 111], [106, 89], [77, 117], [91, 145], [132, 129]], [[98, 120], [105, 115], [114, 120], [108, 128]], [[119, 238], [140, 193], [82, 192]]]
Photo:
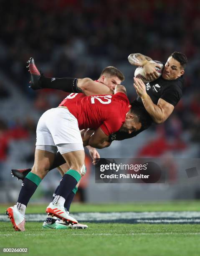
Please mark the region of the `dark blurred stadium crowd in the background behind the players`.
[[[0, 179], [9, 179], [5, 172], [10, 167], [30, 167], [38, 118], [66, 97], [61, 91], [34, 92], [28, 88], [25, 64], [30, 56], [49, 77], [98, 79], [104, 67], [115, 66], [124, 72], [123, 84], [133, 100], [137, 96], [133, 87], [135, 67], [127, 61], [129, 54], [140, 52], [166, 61], [173, 51], [185, 53], [188, 65], [184, 95], [171, 117], [145, 132], [146, 141], [137, 145], [133, 143], [135, 138], [114, 141], [106, 155], [115, 145], [123, 145], [127, 157], [157, 157], [166, 152], [200, 157], [198, 0], [0, 3]], [[127, 145], [133, 148], [131, 153]]]

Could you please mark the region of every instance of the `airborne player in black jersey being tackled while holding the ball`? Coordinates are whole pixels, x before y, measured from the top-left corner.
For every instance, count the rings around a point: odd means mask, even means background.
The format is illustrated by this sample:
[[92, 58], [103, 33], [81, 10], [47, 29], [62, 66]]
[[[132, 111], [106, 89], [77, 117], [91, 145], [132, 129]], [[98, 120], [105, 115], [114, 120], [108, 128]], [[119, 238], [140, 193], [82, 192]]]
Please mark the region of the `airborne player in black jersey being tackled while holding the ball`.
[[[165, 122], [174, 110], [175, 105], [177, 105], [182, 97], [184, 81], [183, 74], [187, 64], [187, 57], [185, 54], [179, 52], [172, 53], [165, 63], [162, 76], [158, 79], [158, 74], [155, 70], [157, 64], [149, 62], [152, 60], [151, 58], [142, 54], [130, 54], [128, 60], [130, 64], [142, 66], [144, 68], [147, 80], [154, 80], [153, 82], [149, 82], [145, 85], [141, 79], [134, 78], [134, 87], [138, 95], [137, 101], [149, 113], [152, 123], [154, 122], [159, 124]], [[34, 74], [34, 76], [35, 78], [31, 79], [32, 84], [30, 86], [33, 90], [53, 88], [66, 92], [82, 92], [82, 89], [86, 90], [86, 88], [88, 88], [88, 90], [92, 90], [92, 84], [94, 83], [94, 81], [89, 78], [52, 79], [46, 78], [43, 75], [41, 76], [41, 74]], [[98, 94], [104, 93], [107, 92], [98, 92]], [[136, 133], [131, 134], [116, 132], [109, 137], [109, 142], [111, 143], [113, 140], [132, 138], [142, 131], [144, 131], [144, 128], [141, 128]], [[64, 163], [65, 160], [58, 152], [51, 169], [54, 169]], [[28, 172], [30, 172], [30, 169], [12, 170], [13, 175], [19, 179], [24, 179]]]

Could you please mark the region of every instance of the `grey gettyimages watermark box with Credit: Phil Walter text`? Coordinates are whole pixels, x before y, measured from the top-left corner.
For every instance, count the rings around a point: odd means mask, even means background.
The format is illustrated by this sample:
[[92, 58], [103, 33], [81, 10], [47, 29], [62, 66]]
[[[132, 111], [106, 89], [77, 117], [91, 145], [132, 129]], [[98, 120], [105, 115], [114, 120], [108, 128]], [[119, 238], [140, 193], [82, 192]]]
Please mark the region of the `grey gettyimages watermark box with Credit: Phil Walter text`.
[[[200, 159], [195, 159], [200, 166]], [[177, 174], [194, 177], [194, 159], [98, 159], [95, 166], [96, 183], [165, 183], [175, 182]], [[188, 171], [189, 170], [189, 171]], [[195, 167], [195, 176], [198, 176]], [[192, 172], [192, 175], [188, 175]]]

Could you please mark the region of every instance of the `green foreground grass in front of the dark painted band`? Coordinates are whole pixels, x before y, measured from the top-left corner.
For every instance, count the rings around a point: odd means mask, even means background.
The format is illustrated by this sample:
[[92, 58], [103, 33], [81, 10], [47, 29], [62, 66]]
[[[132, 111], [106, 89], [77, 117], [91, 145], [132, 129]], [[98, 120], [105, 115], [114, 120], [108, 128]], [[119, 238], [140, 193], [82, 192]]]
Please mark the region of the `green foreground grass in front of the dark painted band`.
[[199, 225], [88, 223], [86, 230], [46, 230], [41, 224], [16, 232], [1, 222], [0, 247], [28, 247], [28, 255], [200, 255]]

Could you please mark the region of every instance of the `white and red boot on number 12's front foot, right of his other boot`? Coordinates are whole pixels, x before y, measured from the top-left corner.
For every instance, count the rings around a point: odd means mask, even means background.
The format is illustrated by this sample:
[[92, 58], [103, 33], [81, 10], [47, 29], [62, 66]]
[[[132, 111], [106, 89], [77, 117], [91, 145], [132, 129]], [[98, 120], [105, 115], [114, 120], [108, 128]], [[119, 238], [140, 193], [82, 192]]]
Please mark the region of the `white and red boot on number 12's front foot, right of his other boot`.
[[[70, 224], [77, 224], [78, 221], [71, 217], [68, 212], [66, 211], [66, 208], [63, 205], [59, 204], [53, 204], [52, 202], [48, 205], [46, 208], [46, 212], [48, 215], [56, 216], [57, 218], [65, 221], [66, 223]], [[51, 217], [49, 216], [49, 217]]]

